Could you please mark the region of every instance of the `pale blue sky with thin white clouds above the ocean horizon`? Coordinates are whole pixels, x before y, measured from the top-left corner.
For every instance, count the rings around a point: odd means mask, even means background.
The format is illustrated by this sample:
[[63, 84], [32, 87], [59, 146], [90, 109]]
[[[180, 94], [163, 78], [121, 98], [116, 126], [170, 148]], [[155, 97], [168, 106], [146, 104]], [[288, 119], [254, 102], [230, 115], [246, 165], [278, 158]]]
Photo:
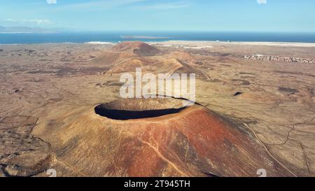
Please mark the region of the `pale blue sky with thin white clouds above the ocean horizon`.
[[0, 0], [1, 26], [315, 32], [314, 0]]

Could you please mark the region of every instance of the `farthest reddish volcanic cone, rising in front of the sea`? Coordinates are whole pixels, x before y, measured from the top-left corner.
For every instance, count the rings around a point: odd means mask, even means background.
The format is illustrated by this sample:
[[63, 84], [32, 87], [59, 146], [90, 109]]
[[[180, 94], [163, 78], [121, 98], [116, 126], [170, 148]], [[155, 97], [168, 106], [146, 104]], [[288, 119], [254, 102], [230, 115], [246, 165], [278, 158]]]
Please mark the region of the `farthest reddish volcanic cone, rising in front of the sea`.
[[126, 41], [112, 48], [117, 52], [132, 52], [139, 57], [151, 57], [160, 54], [160, 50], [152, 45], [139, 41]]

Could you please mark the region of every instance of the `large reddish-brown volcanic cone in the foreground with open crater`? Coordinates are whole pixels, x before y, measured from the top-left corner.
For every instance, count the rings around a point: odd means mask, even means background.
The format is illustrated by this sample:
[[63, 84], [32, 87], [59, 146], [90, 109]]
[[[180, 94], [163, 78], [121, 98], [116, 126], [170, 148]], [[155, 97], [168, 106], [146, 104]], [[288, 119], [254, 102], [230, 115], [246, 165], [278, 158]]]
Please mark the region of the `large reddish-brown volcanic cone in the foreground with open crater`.
[[291, 176], [244, 127], [181, 99], [121, 99], [55, 120], [34, 134], [85, 176]]

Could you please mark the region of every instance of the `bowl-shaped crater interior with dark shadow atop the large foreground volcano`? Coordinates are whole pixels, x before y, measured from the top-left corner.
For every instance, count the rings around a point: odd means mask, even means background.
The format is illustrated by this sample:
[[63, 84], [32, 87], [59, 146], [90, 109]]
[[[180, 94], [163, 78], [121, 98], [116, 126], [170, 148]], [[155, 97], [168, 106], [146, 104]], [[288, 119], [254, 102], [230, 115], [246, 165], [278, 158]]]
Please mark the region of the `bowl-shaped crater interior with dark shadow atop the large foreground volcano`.
[[181, 99], [121, 99], [96, 106], [94, 111], [113, 120], [132, 120], [179, 113], [185, 108]]

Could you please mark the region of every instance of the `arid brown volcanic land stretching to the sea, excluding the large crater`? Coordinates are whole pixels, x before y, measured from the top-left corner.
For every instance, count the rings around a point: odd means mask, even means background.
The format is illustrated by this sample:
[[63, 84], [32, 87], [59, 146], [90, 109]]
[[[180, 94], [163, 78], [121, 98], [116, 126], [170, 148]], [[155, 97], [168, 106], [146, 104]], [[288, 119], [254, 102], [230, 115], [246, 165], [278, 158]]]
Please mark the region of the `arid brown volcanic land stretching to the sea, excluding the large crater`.
[[[315, 45], [149, 44], [0, 45], [0, 176], [315, 176]], [[198, 105], [142, 120], [94, 113], [139, 109], [119, 94], [136, 67], [196, 73]], [[143, 103], [178, 105], [154, 101]]]

